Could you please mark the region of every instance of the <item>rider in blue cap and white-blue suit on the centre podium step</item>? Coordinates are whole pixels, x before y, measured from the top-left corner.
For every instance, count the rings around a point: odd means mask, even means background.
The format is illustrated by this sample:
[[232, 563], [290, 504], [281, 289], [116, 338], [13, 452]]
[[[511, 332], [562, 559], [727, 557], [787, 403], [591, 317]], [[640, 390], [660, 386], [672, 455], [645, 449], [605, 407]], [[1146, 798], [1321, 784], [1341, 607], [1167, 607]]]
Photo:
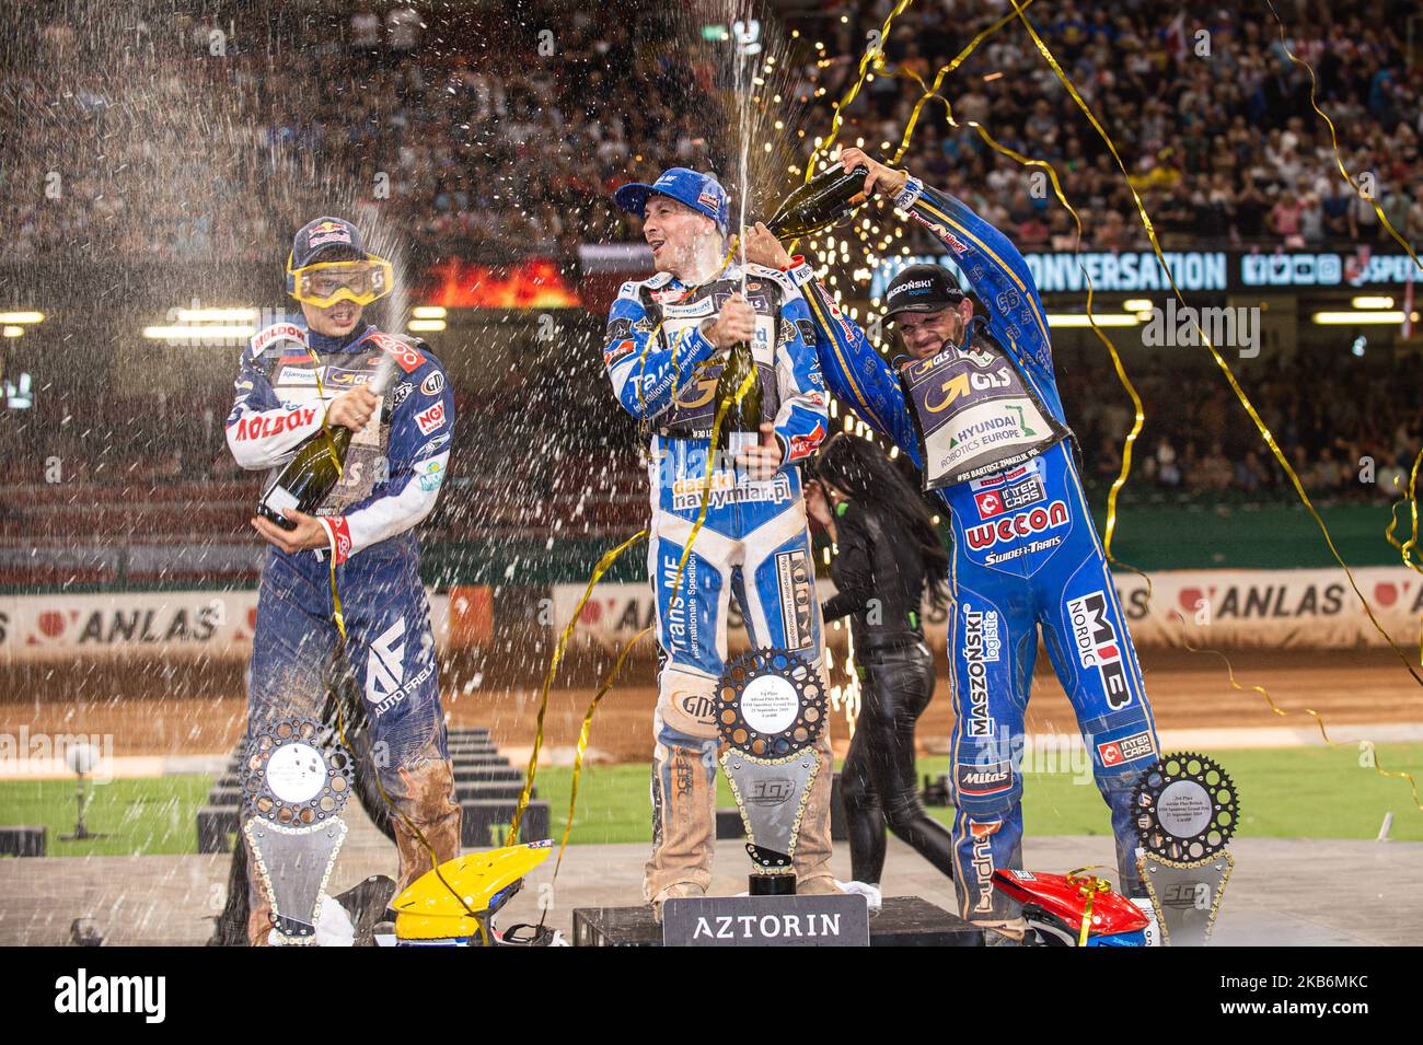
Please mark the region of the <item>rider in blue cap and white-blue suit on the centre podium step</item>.
[[[653, 853], [645, 899], [702, 896], [716, 840], [713, 694], [736, 599], [756, 647], [790, 650], [820, 670], [821, 620], [800, 462], [825, 436], [825, 391], [805, 299], [776, 269], [727, 260], [729, 202], [710, 175], [672, 168], [623, 185], [616, 202], [643, 218], [657, 269], [622, 286], [603, 361], [623, 408], [650, 431], [647, 573], [656, 591]], [[744, 280], [743, 280], [744, 277]], [[743, 286], [744, 283], [744, 286]], [[712, 449], [717, 377], [748, 343], [761, 384], [760, 434]], [[707, 516], [693, 539], [707, 469]], [[677, 580], [683, 550], [692, 545]], [[673, 587], [677, 584], [677, 587]], [[830, 874], [830, 738], [804, 810], [797, 890], [838, 891]]]

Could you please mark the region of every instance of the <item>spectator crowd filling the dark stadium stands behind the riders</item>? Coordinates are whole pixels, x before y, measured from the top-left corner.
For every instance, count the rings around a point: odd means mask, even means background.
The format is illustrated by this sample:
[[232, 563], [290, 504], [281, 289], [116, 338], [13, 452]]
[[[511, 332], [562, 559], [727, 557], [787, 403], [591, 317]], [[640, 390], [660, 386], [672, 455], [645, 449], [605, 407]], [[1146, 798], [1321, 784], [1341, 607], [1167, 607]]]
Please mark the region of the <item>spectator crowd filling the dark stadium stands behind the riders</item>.
[[[719, 44], [702, 38], [699, 18], [686, 13], [633, 14], [618, 0], [598, 14], [561, 6], [556, 16], [549, 4], [527, 3], [512, 20], [505, 10], [453, 16], [420, 4], [379, 14], [357, 6], [339, 16], [273, 4], [268, 26], [253, 24], [260, 3], [211, 7], [213, 21], [194, 20], [182, 33], [125, 23], [127, 34], [100, 40], [95, 34], [112, 27], [55, 18], [24, 41], [34, 64], [17, 68], [0, 95], [7, 262], [65, 250], [131, 260], [268, 260], [272, 243], [310, 215], [312, 199], [333, 196], [373, 208], [380, 229], [417, 262], [568, 256], [582, 242], [638, 236], [636, 222], [609, 202], [616, 183], [653, 176], [670, 162], [730, 169], [717, 151], [726, 136], [707, 127], [714, 122], [709, 112], [726, 114], [704, 104]], [[704, 7], [697, 14], [712, 20]], [[788, 97], [810, 100], [815, 127], [828, 125], [830, 102], [855, 77], [888, 7], [841, 0], [793, 20], [801, 37], [783, 85]], [[1339, 128], [1346, 168], [1368, 178], [1387, 220], [1419, 243], [1423, 74], [1407, 68], [1400, 31], [1416, 7], [1363, 0], [1279, 9], [1291, 50], [1318, 75], [1319, 105]], [[1373, 206], [1342, 183], [1328, 128], [1309, 105], [1311, 77], [1285, 55], [1268, 6], [1222, 0], [1208, 10], [1191, 17], [1148, 0], [1110, 11], [1086, 3], [1029, 7], [1110, 129], [1163, 245], [1392, 243]], [[887, 44], [898, 75], [865, 85], [842, 138], [898, 142], [921, 95], [906, 74], [932, 80], [1005, 13], [1010, 9], [988, 0], [912, 6]], [[212, 33], [229, 26], [229, 14], [238, 31], [215, 57]], [[548, 55], [538, 53], [544, 27], [552, 28]], [[824, 50], [814, 48], [817, 40]], [[100, 45], [101, 61], [75, 61]], [[85, 71], [60, 82], [50, 75], [58, 67]], [[1054, 165], [1083, 219], [1084, 247], [1148, 246], [1116, 161], [1020, 26], [989, 37], [942, 94], [961, 125], [979, 121], [1002, 145]], [[905, 164], [962, 195], [1025, 250], [1074, 246], [1072, 219], [1052, 193], [1035, 192], [1030, 172], [973, 129], [948, 127], [938, 102], [925, 109]], [[344, 181], [323, 179], [333, 171]], [[1118, 468], [1130, 411], [1114, 385], [1101, 394], [1103, 373], [1069, 370], [1063, 384], [1087, 459], [1106, 483]], [[1224, 387], [1185, 401], [1173, 394], [1177, 380], [1167, 368], [1138, 375], [1148, 424], [1136, 446], [1136, 482], [1168, 493], [1264, 496], [1278, 488], [1278, 466]], [[599, 391], [588, 405], [598, 424], [564, 431], [622, 431], [599, 378], [589, 381]], [[1315, 381], [1331, 392], [1301, 395]], [[1416, 382], [1380, 378], [1348, 358], [1276, 361], [1249, 388], [1306, 486], [1325, 496], [1393, 493], [1389, 481], [1412, 463], [1423, 438]], [[467, 405], [481, 424], [512, 425], [514, 435], [542, 424], [528, 412], [481, 411], [474, 397]], [[108, 473], [141, 469], [164, 482], [188, 473], [195, 459], [211, 461], [215, 476], [232, 473], [221, 441], [226, 407], [213, 401], [196, 418], [189, 412], [191, 431], [161, 444], [152, 432], [127, 438], [115, 421]], [[182, 415], [159, 417], [172, 425]], [[90, 425], [104, 431], [98, 419]], [[83, 452], [92, 446], [83, 431], [55, 429], [44, 439], [68, 439], [74, 452], [61, 456], [104, 478], [102, 461]], [[613, 444], [589, 449], [612, 468], [635, 468], [630, 435]], [[135, 462], [131, 449], [149, 445], [165, 449]], [[481, 445], [508, 444], [488, 438]], [[481, 449], [464, 452], [472, 458]], [[1376, 463], [1375, 485], [1359, 482], [1363, 458]], [[33, 481], [43, 459], [11, 458], [6, 478]], [[561, 481], [558, 465], [536, 466], [552, 469], [549, 482]], [[569, 482], [575, 472], [571, 465]]]

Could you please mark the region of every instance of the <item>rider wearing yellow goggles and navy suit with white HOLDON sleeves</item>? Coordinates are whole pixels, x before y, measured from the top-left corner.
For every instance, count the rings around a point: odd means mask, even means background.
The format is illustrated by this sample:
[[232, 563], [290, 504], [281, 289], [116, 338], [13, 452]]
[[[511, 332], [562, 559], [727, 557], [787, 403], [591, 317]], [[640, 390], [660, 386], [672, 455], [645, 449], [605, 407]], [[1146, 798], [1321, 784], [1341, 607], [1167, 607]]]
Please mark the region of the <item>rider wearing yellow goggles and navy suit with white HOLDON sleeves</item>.
[[[438, 862], [460, 854], [460, 808], [414, 535], [448, 468], [454, 397], [428, 345], [361, 320], [364, 306], [390, 287], [390, 262], [369, 254], [350, 222], [306, 225], [287, 260], [287, 293], [306, 323], [279, 323], [252, 338], [226, 436], [243, 468], [279, 469], [323, 419], [354, 434], [342, 481], [316, 515], [289, 509], [292, 530], [252, 519], [273, 547], [258, 597], [248, 728], [289, 715], [319, 718], [327, 687], [353, 677], [381, 754], [374, 771], [404, 813], [393, 818], [401, 890], [430, 870], [406, 818]], [[376, 395], [366, 385], [380, 367], [393, 367], [394, 380]], [[339, 665], [333, 560], [347, 634]], [[256, 862], [248, 866], [248, 934], [260, 944], [272, 909]]]

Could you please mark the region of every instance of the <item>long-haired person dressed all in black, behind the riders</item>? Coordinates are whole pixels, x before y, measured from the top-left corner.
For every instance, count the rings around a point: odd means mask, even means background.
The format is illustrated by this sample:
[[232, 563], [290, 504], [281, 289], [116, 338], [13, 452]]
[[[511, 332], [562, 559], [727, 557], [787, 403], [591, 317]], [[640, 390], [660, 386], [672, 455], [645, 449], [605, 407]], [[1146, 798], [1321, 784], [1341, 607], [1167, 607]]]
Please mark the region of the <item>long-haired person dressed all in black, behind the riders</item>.
[[933, 697], [933, 654], [919, 617], [925, 587], [943, 607], [949, 556], [918, 491], [867, 439], [844, 432], [821, 446], [805, 505], [837, 545], [825, 623], [850, 617], [859, 718], [841, 771], [855, 881], [878, 889], [885, 825], [953, 876], [953, 839], [919, 800], [914, 729]]

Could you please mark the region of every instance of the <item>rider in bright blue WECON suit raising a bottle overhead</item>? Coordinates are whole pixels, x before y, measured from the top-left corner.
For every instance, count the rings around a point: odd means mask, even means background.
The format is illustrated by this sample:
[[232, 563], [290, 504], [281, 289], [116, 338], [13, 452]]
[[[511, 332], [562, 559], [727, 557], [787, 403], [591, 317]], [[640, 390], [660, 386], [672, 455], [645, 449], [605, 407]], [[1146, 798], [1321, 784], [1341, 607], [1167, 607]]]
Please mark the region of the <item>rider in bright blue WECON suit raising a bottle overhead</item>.
[[747, 256], [784, 266], [815, 321], [830, 390], [919, 466], [953, 529], [953, 880], [963, 917], [1020, 938], [1020, 910], [992, 884], [1022, 867], [1023, 715], [1037, 634], [1077, 712], [1097, 788], [1111, 808], [1120, 890], [1143, 891], [1131, 788], [1157, 758], [1155, 725], [1111, 572], [1087, 510], [1057, 397], [1047, 321], [1027, 263], [962, 200], [845, 149], [942, 240], [983, 304], [948, 270], [916, 264], [885, 291], [908, 353], [889, 367], [811, 266], [757, 226]]

